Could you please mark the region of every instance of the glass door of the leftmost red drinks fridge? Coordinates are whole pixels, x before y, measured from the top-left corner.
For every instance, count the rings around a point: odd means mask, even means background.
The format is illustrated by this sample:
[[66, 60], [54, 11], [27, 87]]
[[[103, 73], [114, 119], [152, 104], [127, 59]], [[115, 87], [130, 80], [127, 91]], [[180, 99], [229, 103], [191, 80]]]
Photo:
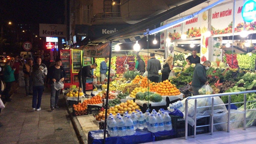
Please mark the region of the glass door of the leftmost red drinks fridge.
[[63, 83], [71, 83], [70, 51], [61, 51], [61, 65], [64, 67], [67, 77]]

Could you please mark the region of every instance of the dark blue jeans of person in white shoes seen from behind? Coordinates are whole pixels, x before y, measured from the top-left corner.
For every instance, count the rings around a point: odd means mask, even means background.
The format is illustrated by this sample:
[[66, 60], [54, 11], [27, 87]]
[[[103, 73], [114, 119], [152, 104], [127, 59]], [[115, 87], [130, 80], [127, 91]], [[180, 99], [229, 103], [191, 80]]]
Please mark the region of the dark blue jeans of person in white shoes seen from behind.
[[40, 108], [43, 91], [44, 91], [44, 85], [33, 86], [32, 108], [36, 108], [36, 109]]

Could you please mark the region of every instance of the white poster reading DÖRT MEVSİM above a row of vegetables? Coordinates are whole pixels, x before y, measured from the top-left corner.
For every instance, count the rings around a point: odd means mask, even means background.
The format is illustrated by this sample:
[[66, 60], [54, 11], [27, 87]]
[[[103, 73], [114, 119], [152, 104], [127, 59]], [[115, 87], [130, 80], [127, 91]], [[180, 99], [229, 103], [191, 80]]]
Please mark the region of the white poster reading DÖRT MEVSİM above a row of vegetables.
[[232, 33], [233, 1], [227, 4], [215, 6], [211, 13], [211, 34]]

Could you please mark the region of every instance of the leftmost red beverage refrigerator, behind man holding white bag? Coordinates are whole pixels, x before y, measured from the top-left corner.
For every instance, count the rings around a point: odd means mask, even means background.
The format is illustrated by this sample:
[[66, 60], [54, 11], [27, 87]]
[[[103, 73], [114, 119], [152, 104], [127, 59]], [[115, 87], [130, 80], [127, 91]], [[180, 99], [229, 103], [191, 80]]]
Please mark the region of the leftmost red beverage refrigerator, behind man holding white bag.
[[61, 56], [61, 65], [64, 67], [67, 77], [64, 79], [64, 87], [69, 87], [72, 85], [72, 76], [71, 76], [71, 57], [70, 50], [60, 50]]

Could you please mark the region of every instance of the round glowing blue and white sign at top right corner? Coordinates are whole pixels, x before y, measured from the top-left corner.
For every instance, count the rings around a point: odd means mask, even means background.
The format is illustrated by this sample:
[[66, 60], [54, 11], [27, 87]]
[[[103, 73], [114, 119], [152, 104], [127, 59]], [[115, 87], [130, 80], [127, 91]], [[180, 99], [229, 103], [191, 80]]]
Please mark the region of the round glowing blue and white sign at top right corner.
[[246, 22], [252, 22], [256, 19], [256, 2], [254, 0], [249, 0], [244, 3], [242, 17]]

